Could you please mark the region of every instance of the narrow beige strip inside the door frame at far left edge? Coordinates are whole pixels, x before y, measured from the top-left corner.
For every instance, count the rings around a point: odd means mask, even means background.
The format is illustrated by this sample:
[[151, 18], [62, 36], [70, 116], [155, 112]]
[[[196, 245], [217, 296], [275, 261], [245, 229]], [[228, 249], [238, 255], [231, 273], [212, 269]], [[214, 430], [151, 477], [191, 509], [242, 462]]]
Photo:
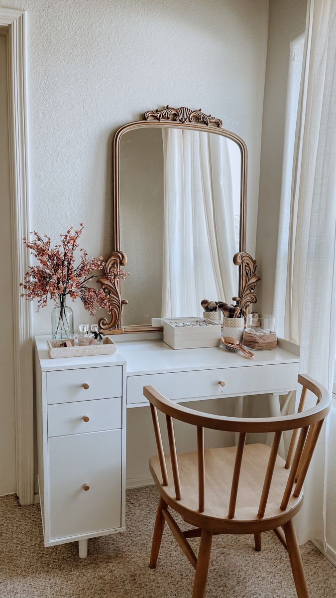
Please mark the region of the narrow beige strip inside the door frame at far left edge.
[[7, 39], [0, 30], [0, 495], [16, 490]]

